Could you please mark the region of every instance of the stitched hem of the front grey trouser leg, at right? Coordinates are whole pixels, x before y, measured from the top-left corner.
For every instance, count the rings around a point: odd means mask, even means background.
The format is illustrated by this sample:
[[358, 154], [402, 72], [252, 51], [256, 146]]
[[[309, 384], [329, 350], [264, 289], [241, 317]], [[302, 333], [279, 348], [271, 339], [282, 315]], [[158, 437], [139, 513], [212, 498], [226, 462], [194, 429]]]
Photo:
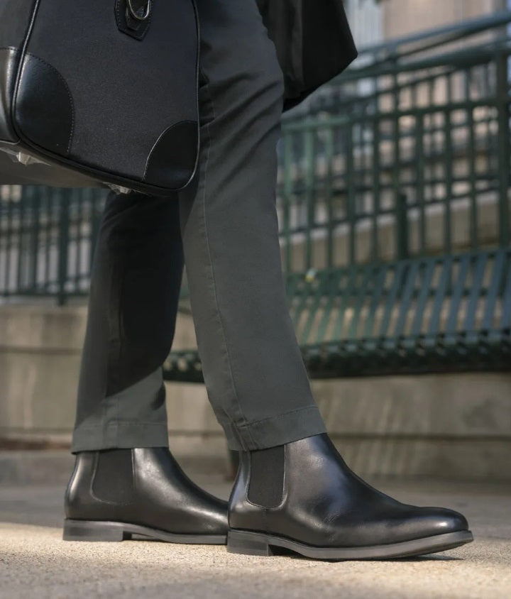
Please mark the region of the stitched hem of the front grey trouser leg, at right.
[[326, 428], [316, 406], [304, 407], [286, 414], [236, 427], [232, 422], [221, 423], [229, 449], [254, 451], [300, 441], [307, 436], [322, 434]]

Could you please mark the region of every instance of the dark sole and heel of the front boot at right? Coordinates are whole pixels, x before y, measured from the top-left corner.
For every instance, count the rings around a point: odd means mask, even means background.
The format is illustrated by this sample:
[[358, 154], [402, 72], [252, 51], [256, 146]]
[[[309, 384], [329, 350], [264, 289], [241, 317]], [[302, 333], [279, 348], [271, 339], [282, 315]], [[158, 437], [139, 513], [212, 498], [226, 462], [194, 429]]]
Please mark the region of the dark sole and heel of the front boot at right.
[[469, 530], [463, 530], [388, 545], [315, 547], [272, 534], [231, 529], [227, 534], [227, 551], [233, 554], [271, 556], [274, 555], [274, 547], [283, 547], [312, 559], [392, 559], [446, 551], [472, 541], [473, 534]]

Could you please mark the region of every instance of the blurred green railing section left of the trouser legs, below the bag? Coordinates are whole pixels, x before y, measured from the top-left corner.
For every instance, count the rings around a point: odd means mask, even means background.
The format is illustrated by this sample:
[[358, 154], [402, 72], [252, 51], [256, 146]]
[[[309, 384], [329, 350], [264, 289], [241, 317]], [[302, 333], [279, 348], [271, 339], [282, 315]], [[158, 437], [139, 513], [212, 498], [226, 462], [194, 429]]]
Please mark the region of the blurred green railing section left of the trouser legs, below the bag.
[[0, 295], [87, 295], [102, 189], [0, 187]]

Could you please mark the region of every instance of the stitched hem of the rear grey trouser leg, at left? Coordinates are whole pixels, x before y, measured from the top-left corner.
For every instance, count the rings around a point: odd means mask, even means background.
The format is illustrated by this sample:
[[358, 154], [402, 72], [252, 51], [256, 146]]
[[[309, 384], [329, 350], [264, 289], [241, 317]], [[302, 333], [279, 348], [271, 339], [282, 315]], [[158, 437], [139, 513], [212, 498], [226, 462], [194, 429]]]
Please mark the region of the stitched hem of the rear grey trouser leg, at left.
[[116, 422], [106, 427], [78, 427], [73, 432], [71, 452], [133, 447], [168, 447], [166, 425]]

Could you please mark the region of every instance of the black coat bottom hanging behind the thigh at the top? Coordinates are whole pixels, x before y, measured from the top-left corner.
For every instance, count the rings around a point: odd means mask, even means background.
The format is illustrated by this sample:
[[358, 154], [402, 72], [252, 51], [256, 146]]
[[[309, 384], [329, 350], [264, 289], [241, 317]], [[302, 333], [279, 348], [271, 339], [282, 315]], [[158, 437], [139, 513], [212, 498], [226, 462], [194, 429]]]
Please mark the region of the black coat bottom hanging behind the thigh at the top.
[[357, 57], [342, 0], [257, 0], [277, 48], [285, 109], [339, 75]]

